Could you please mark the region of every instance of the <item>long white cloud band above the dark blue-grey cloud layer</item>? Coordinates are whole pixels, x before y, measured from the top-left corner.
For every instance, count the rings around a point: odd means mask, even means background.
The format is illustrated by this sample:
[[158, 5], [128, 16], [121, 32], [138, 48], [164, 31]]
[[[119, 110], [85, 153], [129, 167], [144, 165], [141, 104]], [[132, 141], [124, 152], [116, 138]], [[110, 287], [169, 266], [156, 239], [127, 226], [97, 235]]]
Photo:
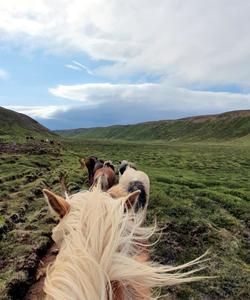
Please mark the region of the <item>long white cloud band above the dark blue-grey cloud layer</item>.
[[140, 104], [142, 109], [150, 107], [154, 111], [182, 113], [213, 113], [250, 107], [250, 94], [191, 91], [165, 83], [59, 85], [50, 92], [57, 97], [79, 101], [82, 107], [98, 108], [105, 104], [110, 107], [111, 113], [114, 103], [125, 106]]

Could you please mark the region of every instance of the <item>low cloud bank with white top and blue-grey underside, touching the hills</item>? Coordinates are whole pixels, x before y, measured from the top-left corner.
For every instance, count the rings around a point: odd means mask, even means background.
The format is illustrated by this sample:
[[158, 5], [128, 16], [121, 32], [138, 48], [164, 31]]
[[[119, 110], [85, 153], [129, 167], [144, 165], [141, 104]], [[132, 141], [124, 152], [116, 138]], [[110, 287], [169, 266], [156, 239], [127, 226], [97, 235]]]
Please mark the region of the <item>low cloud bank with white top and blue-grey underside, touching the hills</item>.
[[69, 105], [7, 106], [53, 129], [129, 124], [248, 109], [250, 94], [190, 91], [162, 84], [60, 85], [50, 92]]

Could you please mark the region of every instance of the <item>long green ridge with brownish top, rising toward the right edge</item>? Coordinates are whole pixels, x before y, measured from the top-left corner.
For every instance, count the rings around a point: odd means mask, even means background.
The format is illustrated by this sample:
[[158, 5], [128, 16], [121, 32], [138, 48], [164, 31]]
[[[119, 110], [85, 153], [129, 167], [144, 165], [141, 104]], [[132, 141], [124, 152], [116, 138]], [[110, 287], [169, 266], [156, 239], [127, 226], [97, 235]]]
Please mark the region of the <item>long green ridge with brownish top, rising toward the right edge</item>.
[[202, 141], [250, 139], [250, 110], [134, 125], [57, 130], [63, 137], [85, 139]]

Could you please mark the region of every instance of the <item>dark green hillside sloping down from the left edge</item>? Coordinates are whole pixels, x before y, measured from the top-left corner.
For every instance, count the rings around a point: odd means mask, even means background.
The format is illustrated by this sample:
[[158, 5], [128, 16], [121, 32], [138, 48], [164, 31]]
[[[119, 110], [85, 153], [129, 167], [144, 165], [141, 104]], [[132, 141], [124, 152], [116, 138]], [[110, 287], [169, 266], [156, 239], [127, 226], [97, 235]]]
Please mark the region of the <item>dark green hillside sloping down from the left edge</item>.
[[0, 107], [0, 136], [55, 136], [46, 127], [32, 118], [15, 111]]

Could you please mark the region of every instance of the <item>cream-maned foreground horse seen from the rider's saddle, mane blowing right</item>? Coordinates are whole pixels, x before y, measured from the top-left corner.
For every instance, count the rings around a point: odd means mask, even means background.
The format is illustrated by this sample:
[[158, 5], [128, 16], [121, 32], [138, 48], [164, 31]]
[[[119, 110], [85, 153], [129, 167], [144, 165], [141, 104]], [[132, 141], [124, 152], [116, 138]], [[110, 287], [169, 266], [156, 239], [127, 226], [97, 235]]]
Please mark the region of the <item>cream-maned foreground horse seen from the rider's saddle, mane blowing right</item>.
[[153, 287], [204, 278], [193, 276], [199, 268], [186, 270], [206, 261], [204, 255], [176, 267], [149, 260], [145, 249], [156, 226], [143, 227], [144, 215], [127, 209], [140, 191], [116, 200], [99, 185], [66, 199], [46, 189], [43, 194], [60, 216], [52, 233], [59, 253], [44, 283], [47, 300], [149, 300], [157, 298]]

